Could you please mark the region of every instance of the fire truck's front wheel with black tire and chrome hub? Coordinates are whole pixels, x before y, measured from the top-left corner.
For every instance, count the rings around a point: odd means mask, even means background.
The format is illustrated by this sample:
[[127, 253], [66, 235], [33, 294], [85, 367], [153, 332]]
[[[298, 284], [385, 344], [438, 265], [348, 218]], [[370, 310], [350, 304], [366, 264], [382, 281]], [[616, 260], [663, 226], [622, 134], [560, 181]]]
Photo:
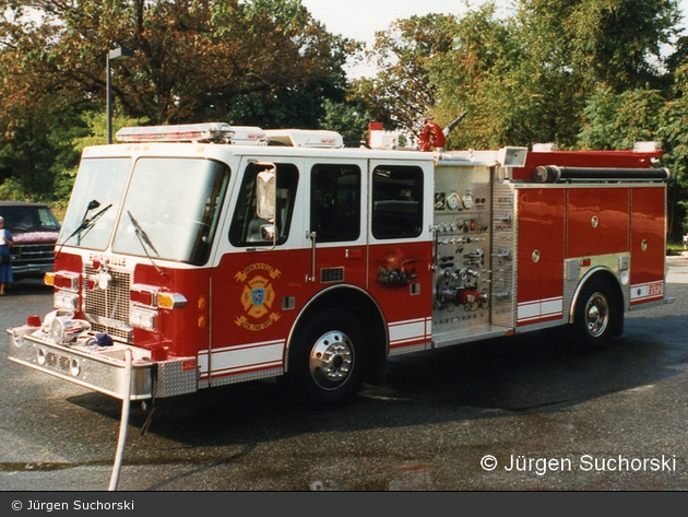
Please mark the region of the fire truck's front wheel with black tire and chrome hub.
[[297, 331], [285, 381], [303, 406], [349, 401], [363, 385], [367, 363], [363, 325], [348, 312], [324, 310]]

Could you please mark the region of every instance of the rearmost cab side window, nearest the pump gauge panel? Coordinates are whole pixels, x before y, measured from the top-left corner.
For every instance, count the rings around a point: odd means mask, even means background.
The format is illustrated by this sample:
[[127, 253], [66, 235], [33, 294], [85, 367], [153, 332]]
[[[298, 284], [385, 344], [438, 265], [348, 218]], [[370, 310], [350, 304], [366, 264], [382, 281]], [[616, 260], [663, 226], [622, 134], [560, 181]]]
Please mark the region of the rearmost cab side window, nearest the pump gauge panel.
[[423, 230], [423, 169], [378, 166], [372, 172], [372, 236], [417, 237]]

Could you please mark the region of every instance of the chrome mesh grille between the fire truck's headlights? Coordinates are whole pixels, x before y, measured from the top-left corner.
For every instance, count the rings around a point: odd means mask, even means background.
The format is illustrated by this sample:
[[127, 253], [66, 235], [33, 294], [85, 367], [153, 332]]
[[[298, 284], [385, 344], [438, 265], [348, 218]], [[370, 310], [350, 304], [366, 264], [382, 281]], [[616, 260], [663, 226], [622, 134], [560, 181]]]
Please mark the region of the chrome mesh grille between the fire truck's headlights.
[[[84, 268], [84, 279], [96, 274], [90, 266]], [[84, 282], [84, 314], [91, 321], [95, 332], [106, 332], [119, 340], [131, 342], [129, 325], [129, 291], [131, 277], [129, 273], [108, 271], [111, 280], [106, 290], [88, 289]]]

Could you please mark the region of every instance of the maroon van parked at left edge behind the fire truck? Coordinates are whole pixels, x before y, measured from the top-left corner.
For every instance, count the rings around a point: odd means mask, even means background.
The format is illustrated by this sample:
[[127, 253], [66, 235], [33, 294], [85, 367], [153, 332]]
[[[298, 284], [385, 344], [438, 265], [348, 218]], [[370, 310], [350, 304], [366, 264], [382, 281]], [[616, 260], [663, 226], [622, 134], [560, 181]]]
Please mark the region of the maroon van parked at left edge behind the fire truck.
[[43, 278], [52, 271], [60, 223], [50, 209], [41, 203], [0, 201], [0, 215], [14, 240], [10, 248], [14, 280]]

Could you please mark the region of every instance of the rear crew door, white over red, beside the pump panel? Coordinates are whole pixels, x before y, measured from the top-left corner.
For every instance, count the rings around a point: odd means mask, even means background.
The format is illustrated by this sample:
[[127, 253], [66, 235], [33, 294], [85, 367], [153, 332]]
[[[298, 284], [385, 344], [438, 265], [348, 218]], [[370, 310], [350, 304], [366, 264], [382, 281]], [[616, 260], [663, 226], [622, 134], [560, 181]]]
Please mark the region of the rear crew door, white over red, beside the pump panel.
[[368, 291], [391, 353], [431, 339], [432, 177], [432, 164], [420, 161], [373, 160], [368, 168]]

